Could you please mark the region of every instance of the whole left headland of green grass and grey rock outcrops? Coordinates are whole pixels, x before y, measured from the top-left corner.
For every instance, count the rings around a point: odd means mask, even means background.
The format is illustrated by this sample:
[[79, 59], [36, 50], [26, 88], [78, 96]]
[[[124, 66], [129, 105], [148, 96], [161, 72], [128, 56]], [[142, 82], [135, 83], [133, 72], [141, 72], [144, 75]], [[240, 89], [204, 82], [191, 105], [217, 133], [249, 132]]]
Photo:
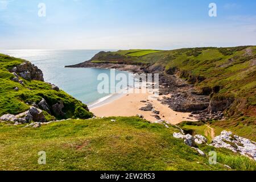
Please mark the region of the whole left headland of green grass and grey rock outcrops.
[[81, 101], [44, 82], [43, 72], [34, 64], [1, 54], [0, 59], [0, 121], [20, 125], [93, 116]]

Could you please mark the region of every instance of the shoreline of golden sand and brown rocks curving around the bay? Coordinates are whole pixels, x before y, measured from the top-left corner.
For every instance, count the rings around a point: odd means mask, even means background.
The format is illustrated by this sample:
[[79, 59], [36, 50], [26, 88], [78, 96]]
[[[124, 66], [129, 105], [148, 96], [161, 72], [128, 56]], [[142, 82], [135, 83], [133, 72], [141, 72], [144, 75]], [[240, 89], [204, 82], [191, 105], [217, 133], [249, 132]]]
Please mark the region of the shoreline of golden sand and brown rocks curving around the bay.
[[[90, 61], [66, 66], [66, 68], [117, 69], [118, 71], [139, 74], [148, 72], [151, 69], [146, 68], [143, 65], [112, 63], [96, 64], [90, 63]], [[155, 69], [154, 73], [160, 73], [160, 71]], [[102, 102], [90, 105], [89, 109], [97, 117], [132, 117], [139, 114], [143, 115], [144, 119], [150, 122], [159, 121], [161, 119], [176, 125], [183, 121], [199, 121], [201, 113], [196, 113], [195, 115], [194, 111], [204, 110], [209, 106], [208, 96], [193, 94], [193, 85], [188, 84], [186, 81], [175, 75], [165, 75], [160, 73], [159, 85], [160, 89], [158, 92], [160, 93], [160, 96], [158, 100], [147, 102], [148, 104], [152, 104], [154, 107], [153, 110], [160, 111], [159, 114], [152, 113], [151, 110], [140, 110], [141, 107], [146, 106], [142, 101], [147, 101], [147, 97], [150, 96], [150, 93], [114, 94]], [[172, 87], [170, 87], [170, 85], [172, 85]], [[188, 95], [187, 92], [189, 93]], [[180, 93], [183, 94], [180, 95]]]

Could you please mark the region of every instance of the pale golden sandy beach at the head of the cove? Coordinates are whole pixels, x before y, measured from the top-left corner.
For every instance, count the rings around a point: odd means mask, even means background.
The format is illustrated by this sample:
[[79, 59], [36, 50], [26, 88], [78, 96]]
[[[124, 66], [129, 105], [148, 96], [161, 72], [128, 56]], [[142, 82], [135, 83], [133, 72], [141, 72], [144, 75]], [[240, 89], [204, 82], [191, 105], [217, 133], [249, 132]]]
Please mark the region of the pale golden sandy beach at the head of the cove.
[[[139, 92], [139, 90], [137, 90], [137, 92]], [[157, 121], [158, 119], [153, 116], [156, 114], [152, 113], [152, 111], [139, 110], [141, 107], [147, 105], [147, 103], [141, 101], [147, 101], [154, 106], [154, 110], [160, 111], [160, 114], [158, 114], [159, 117], [168, 123], [176, 125], [182, 121], [196, 121], [196, 119], [189, 118], [189, 114], [191, 113], [176, 112], [168, 107], [168, 105], [163, 105], [157, 99], [152, 100], [150, 97], [154, 97], [154, 94], [150, 92], [124, 94], [122, 97], [117, 98], [116, 100], [113, 100], [107, 104], [90, 109], [90, 111], [92, 111], [97, 117], [131, 117], [141, 114], [150, 122]], [[162, 97], [164, 96], [159, 96], [160, 99]]]

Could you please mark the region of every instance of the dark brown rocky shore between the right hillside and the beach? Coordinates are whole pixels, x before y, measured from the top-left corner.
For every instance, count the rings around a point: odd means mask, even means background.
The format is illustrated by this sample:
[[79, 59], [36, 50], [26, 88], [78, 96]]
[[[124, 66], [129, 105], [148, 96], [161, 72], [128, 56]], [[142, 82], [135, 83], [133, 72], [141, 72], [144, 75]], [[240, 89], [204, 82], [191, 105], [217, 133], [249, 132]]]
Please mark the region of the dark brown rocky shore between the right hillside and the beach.
[[[209, 94], [198, 92], [194, 85], [189, 84], [177, 75], [167, 75], [162, 68], [144, 67], [143, 65], [114, 64], [114, 63], [84, 63], [69, 65], [66, 68], [101, 68], [117, 69], [119, 71], [129, 71], [132, 73], [159, 73], [159, 95], [163, 97], [160, 102], [168, 105], [172, 110], [179, 112], [192, 112], [191, 118], [199, 121], [210, 119], [224, 119], [222, 111], [212, 111], [210, 109]], [[153, 85], [154, 87], [154, 85]]]

